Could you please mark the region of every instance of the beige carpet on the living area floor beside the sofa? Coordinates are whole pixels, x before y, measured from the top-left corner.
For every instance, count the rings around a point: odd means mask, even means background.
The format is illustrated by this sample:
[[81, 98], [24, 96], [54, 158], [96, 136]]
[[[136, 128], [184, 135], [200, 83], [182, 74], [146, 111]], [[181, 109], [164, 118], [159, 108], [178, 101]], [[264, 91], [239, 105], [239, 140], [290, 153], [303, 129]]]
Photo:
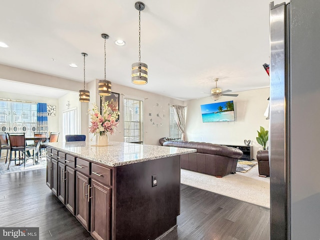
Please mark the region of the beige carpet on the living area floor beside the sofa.
[[259, 176], [258, 165], [223, 177], [181, 169], [181, 183], [270, 208], [270, 178]]

